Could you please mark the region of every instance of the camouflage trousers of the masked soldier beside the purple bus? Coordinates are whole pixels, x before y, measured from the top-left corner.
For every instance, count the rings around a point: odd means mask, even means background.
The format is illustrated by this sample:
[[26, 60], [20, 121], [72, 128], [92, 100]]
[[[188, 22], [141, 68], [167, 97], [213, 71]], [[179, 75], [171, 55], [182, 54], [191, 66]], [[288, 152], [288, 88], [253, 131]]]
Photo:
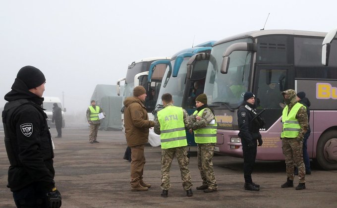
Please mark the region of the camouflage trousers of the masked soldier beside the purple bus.
[[305, 183], [305, 165], [303, 162], [303, 140], [283, 138], [282, 151], [285, 157], [286, 175], [294, 180], [294, 167], [298, 169], [299, 183]]

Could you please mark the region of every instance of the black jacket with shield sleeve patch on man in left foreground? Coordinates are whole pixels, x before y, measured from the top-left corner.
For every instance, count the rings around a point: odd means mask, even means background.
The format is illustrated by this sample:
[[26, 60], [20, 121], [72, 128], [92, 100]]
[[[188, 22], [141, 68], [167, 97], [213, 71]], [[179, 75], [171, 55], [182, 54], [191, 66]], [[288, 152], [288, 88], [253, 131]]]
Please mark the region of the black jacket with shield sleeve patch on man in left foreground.
[[12, 91], [4, 99], [8, 101], [2, 111], [10, 163], [7, 187], [18, 191], [34, 182], [41, 190], [51, 190], [55, 186], [54, 152], [47, 115], [41, 107], [43, 98], [15, 79]]

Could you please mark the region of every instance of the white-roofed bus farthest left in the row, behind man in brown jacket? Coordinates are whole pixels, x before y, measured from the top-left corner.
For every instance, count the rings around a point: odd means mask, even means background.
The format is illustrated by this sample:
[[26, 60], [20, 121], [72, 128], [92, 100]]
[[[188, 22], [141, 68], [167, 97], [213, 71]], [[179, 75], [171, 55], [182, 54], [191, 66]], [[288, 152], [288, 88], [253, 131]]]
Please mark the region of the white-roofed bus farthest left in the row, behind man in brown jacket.
[[[117, 95], [120, 95], [120, 82], [125, 81], [124, 84], [124, 92], [123, 92], [123, 99], [122, 102], [124, 102], [124, 100], [127, 97], [131, 97], [133, 96], [133, 88], [138, 86], [139, 83], [136, 81], [135, 84], [135, 77], [136, 79], [141, 75], [142, 72], [148, 72], [149, 71], [149, 67], [151, 65], [151, 63], [153, 61], [156, 60], [169, 60], [170, 57], [150, 57], [150, 58], [143, 58], [141, 60], [138, 61], [133, 61], [128, 67], [127, 67], [127, 72], [126, 72], [126, 77], [125, 78], [121, 78], [117, 81]], [[166, 70], [166, 65], [163, 65], [162, 67], [159, 66], [157, 67], [157, 73], [156, 73], [156, 80], [151, 83], [150, 85], [144, 86], [145, 89], [147, 90], [147, 99], [145, 101], [145, 106], [147, 107], [147, 111], [148, 111], [148, 115], [149, 115], [149, 119], [153, 120], [153, 114], [152, 111], [155, 107], [155, 103], [151, 100], [151, 98], [153, 97], [151, 90], [154, 89], [155, 87], [157, 87], [159, 85], [159, 83], [161, 83], [161, 79], [163, 78], [164, 72]], [[157, 86], [156, 86], [157, 85]], [[157, 87], [158, 88], [158, 87]], [[158, 91], [155, 92], [158, 94]], [[157, 95], [155, 95], [155, 97], [157, 97]], [[124, 104], [122, 103], [122, 115], [121, 115], [121, 119], [122, 119], [122, 131], [125, 133], [125, 128], [124, 128], [124, 108], [123, 108]]]

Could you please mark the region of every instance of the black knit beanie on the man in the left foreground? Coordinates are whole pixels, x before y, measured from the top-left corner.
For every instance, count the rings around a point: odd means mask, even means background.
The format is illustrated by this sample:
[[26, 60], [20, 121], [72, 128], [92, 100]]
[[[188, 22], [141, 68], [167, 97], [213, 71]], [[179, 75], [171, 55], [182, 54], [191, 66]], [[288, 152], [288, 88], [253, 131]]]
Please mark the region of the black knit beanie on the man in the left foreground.
[[32, 88], [39, 87], [44, 82], [46, 82], [45, 75], [38, 68], [34, 66], [24, 66], [22, 67], [16, 75], [17, 79], [23, 81], [28, 90]]

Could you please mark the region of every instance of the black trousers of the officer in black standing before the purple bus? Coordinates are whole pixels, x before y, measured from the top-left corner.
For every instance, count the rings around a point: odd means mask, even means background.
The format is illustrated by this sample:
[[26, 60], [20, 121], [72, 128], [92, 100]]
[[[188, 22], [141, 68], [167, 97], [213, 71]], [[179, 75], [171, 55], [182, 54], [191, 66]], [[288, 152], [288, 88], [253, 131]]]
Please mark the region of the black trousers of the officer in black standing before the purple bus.
[[242, 152], [243, 152], [243, 177], [245, 183], [252, 183], [252, 172], [256, 159], [257, 141], [253, 140], [254, 147], [248, 147], [247, 142], [242, 140]]

